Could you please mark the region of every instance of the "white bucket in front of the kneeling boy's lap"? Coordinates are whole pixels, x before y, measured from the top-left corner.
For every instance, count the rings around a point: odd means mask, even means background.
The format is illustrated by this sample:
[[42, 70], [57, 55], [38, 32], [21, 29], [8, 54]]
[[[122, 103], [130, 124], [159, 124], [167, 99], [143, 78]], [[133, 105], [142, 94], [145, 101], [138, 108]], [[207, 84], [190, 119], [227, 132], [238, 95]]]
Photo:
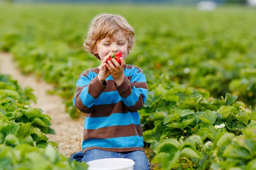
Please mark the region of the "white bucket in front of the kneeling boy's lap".
[[133, 170], [135, 162], [131, 159], [108, 158], [87, 162], [88, 170]]

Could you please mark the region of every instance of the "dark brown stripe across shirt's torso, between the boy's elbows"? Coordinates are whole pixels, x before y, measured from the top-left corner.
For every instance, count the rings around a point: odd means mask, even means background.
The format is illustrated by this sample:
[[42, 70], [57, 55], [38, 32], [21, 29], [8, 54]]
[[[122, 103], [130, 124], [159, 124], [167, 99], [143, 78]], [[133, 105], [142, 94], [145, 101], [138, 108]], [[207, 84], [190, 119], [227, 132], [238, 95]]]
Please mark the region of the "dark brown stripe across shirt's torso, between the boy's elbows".
[[128, 113], [130, 109], [125, 103], [120, 100], [118, 103], [112, 103], [108, 105], [95, 105], [92, 114], [86, 115], [87, 117], [107, 117], [113, 113]]

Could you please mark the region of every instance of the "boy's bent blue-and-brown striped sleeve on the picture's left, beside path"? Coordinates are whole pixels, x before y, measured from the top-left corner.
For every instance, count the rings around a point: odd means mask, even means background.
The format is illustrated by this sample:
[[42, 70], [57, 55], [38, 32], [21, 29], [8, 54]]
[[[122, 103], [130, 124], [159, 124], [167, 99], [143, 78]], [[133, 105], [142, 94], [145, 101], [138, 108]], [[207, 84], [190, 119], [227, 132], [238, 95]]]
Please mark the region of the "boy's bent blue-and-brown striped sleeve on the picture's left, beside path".
[[84, 71], [76, 83], [76, 94], [73, 97], [73, 105], [81, 112], [91, 113], [95, 107], [99, 95], [107, 88], [107, 82], [99, 82], [98, 75], [92, 71]]

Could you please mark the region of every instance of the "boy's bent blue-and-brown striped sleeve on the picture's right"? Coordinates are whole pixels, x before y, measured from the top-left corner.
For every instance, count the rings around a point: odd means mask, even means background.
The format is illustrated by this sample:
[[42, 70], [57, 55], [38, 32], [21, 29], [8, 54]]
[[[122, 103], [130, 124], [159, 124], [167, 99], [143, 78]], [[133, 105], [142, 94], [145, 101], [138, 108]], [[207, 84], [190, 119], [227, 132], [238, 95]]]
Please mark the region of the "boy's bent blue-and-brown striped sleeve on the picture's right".
[[137, 111], [145, 104], [148, 96], [148, 86], [145, 75], [140, 68], [136, 67], [134, 69], [131, 81], [125, 77], [125, 81], [121, 85], [117, 86], [114, 83], [114, 86], [131, 111]]

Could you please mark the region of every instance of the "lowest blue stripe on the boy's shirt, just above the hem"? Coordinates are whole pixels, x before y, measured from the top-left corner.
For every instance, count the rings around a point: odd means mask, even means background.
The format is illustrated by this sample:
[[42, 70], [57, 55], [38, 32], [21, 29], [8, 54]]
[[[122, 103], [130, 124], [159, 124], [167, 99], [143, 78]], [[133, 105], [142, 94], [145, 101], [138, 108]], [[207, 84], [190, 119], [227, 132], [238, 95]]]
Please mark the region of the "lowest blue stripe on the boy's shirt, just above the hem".
[[128, 136], [109, 139], [88, 139], [82, 142], [82, 149], [87, 147], [144, 147], [143, 136]]

